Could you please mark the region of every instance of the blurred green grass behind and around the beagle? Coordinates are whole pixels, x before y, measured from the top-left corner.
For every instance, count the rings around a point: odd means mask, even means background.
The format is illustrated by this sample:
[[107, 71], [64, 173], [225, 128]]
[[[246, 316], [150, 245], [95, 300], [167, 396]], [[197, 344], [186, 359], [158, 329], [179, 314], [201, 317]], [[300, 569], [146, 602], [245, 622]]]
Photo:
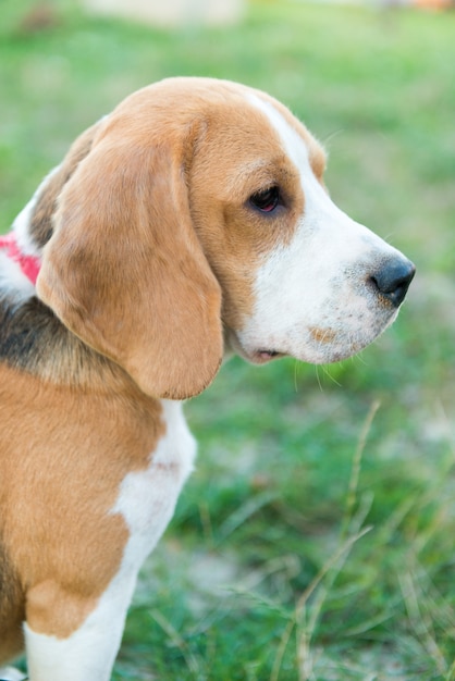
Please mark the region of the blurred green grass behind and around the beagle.
[[[233, 360], [187, 405], [197, 471], [143, 570], [114, 680], [455, 679], [455, 15], [256, 2], [229, 29], [2, 7], [3, 231], [75, 135], [155, 79], [269, 90], [418, 275], [360, 358]], [[379, 407], [378, 407], [379, 404]]]

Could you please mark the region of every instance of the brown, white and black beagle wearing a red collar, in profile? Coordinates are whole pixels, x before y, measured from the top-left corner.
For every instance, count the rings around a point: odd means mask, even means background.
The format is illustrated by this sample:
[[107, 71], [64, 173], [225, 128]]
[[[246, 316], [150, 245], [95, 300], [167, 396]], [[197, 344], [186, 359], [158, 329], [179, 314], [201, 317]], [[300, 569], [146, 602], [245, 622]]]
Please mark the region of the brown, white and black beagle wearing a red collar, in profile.
[[[325, 363], [414, 265], [331, 201], [320, 145], [249, 87], [171, 78], [87, 129], [0, 242], [0, 664], [108, 681], [223, 356]], [[1, 674], [0, 674], [1, 677]]]

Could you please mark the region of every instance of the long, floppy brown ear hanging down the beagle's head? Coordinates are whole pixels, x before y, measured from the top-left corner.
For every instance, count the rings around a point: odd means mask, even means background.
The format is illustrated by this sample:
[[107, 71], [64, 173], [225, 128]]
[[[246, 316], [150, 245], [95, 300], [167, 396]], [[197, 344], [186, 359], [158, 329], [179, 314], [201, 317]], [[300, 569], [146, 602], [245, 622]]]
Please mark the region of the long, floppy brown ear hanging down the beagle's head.
[[221, 292], [194, 231], [182, 150], [101, 139], [64, 187], [39, 297], [148, 395], [185, 399], [222, 358]]

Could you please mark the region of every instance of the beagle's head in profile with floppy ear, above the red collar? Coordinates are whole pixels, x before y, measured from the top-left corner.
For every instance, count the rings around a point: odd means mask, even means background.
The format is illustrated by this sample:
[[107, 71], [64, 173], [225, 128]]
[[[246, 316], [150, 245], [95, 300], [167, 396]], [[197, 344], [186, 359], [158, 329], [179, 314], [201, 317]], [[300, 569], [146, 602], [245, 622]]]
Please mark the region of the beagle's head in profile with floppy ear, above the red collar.
[[[37, 290], [144, 392], [185, 398], [224, 347], [348, 357], [396, 317], [413, 264], [331, 201], [324, 153], [282, 104], [175, 78], [124, 100], [37, 199]], [[56, 210], [57, 206], [57, 210]]]

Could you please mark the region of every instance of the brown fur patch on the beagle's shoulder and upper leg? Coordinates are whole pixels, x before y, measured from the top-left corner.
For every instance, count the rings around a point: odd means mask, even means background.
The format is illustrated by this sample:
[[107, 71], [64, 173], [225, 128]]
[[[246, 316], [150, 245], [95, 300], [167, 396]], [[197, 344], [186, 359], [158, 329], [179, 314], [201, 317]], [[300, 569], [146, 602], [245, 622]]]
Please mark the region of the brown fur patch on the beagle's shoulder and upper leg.
[[[3, 553], [21, 574], [29, 626], [66, 636], [119, 569], [128, 533], [109, 511], [121, 481], [147, 467], [163, 435], [161, 409], [127, 385], [108, 394], [98, 382], [81, 392], [7, 367], [0, 405], [2, 423], [21, 432], [1, 449]], [[13, 583], [10, 571], [7, 578]]]

